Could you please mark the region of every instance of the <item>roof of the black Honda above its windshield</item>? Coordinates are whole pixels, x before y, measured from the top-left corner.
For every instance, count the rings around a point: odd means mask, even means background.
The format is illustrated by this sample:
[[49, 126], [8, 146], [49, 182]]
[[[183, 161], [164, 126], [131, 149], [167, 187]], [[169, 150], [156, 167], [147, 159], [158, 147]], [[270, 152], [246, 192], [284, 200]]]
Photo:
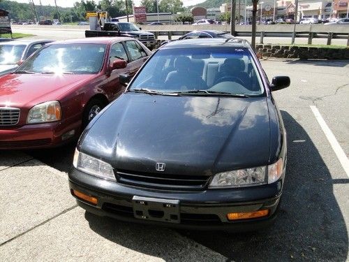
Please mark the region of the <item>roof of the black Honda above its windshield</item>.
[[196, 38], [173, 41], [167, 45], [163, 45], [161, 49], [170, 48], [250, 48], [248, 41], [241, 38]]

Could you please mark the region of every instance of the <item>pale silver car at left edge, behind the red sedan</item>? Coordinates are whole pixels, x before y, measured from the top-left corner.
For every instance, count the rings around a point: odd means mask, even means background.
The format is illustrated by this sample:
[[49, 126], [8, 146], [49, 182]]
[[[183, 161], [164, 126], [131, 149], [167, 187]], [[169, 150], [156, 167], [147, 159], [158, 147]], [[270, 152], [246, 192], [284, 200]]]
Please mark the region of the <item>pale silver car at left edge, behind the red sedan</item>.
[[0, 43], [0, 75], [15, 70], [25, 59], [52, 40], [15, 40]]

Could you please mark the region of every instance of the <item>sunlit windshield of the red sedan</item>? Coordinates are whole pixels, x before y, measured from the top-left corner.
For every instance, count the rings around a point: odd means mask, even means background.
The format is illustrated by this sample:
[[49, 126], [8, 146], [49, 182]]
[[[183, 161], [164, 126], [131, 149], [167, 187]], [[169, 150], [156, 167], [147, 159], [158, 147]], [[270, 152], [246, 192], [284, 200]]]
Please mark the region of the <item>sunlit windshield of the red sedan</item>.
[[94, 74], [101, 71], [106, 45], [47, 45], [17, 68], [15, 73]]

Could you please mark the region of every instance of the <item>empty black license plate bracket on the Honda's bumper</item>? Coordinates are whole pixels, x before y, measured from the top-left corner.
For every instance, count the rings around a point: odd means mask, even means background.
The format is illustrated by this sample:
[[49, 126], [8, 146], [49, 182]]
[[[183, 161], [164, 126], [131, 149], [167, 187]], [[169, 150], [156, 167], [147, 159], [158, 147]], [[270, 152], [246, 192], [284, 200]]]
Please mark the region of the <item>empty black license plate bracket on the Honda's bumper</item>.
[[133, 215], [143, 220], [179, 224], [179, 200], [133, 196]]

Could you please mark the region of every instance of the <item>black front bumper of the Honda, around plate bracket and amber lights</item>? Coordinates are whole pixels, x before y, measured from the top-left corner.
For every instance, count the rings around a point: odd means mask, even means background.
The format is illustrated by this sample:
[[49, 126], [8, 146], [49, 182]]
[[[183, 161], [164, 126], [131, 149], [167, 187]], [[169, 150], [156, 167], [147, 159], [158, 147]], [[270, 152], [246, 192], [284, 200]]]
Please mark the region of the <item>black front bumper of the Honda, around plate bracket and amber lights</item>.
[[[279, 180], [274, 184], [239, 189], [154, 191], [103, 180], [75, 168], [69, 173], [70, 192], [76, 190], [98, 199], [97, 205], [91, 205], [77, 198], [78, 205], [88, 212], [122, 221], [199, 230], [256, 231], [270, 226], [276, 217], [282, 185], [283, 181]], [[133, 196], [179, 201], [180, 223], [135, 218]], [[267, 217], [237, 221], [229, 221], [227, 218], [230, 212], [253, 212], [265, 209], [269, 210]]]

